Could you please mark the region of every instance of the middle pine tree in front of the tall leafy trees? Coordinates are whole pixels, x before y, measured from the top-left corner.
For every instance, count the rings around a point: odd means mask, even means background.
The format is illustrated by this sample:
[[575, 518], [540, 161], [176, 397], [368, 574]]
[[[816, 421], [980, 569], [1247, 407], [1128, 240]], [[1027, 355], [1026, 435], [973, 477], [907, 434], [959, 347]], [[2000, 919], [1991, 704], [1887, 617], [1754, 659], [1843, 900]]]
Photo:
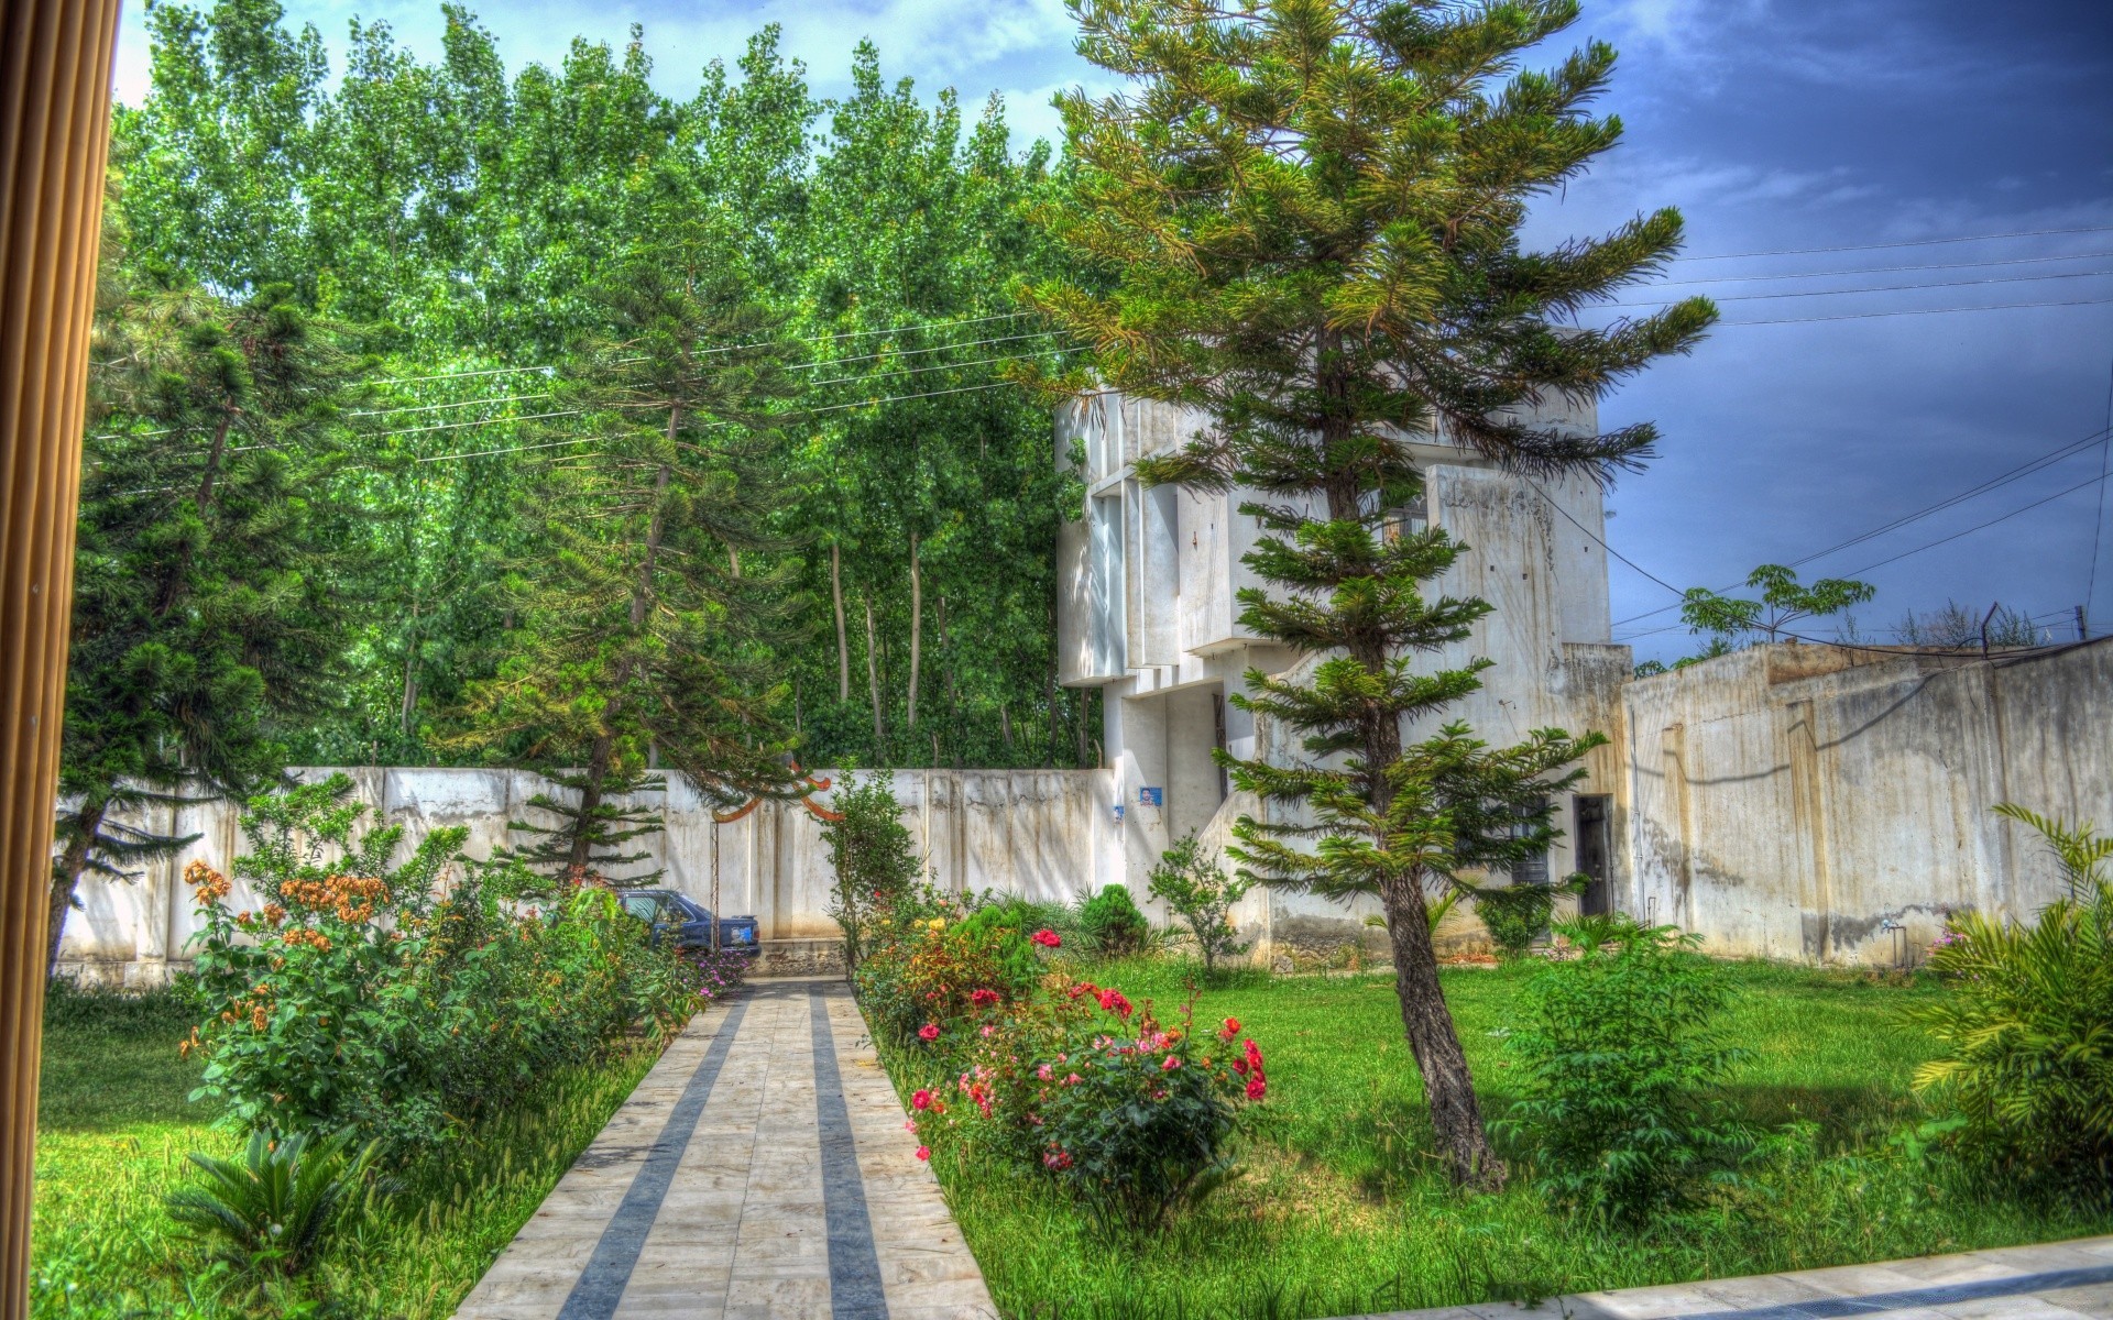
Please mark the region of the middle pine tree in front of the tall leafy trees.
[[579, 427], [537, 441], [524, 515], [541, 553], [511, 574], [511, 655], [473, 686], [456, 739], [571, 790], [530, 798], [560, 826], [513, 822], [520, 855], [558, 874], [647, 855], [625, 847], [655, 813], [617, 798], [661, 767], [721, 805], [799, 781], [769, 663], [797, 600], [784, 566], [759, 570], [759, 551], [784, 549], [763, 530], [780, 498], [767, 406], [794, 386], [778, 321], [723, 251], [706, 222], [674, 222], [598, 283], [611, 334], [554, 393]]

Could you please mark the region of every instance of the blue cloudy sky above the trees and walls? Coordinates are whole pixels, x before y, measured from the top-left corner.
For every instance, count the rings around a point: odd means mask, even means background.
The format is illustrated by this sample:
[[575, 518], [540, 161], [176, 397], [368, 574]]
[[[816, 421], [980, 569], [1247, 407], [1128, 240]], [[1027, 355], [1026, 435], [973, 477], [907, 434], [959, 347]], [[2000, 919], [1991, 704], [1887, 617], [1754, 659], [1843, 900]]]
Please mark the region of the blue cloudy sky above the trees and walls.
[[[127, 6], [118, 46], [127, 101], [146, 91], [142, 8]], [[807, 61], [822, 95], [843, 89], [852, 44], [871, 36], [890, 76], [932, 91], [951, 84], [970, 101], [999, 91], [1027, 135], [1056, 131], [1056, 89], [1105, 84], [1071, 51], [1061, 0], [475, 8], [516, 65], [558, 61], [573, 36], [621, 42], [632, 21], [644, 23], [655, 80], [676, 95], [695, 89], [714, 55], [731, 61], [763, 23], [784, 25], [786, 51]], [[294, 0], [287, 15], [315, 23], [334, 51], [353, 15], [389, 21], [425, 55], [440, 49], [437, 2]], [[1870, 247], [1680, 264], [1680, 279], [1722, 281], [1678, 291], [1724, 298], [1726, 327], [1602, 406], [1602, 425], [1652, 418], [1665, 435], [1657, 463], [1610, 494], [1616, 551], [1671, 585], [1724, 587], [1756, 564], [1811, 555], [2113, 420], [2113, 4], [1587, 0], [1572, 36], [1621, 49], [1608, 108], [1627, 137], [1589, 180], [1536, 209], [1530, 239], [1676, 205], [1697, 258]], [[2026, 237], [1929, 243], [1974, 234]], [[1897, 243], [1919, 245], [1872, 247]], [[1728, 279], [1832, 270], [1847, 275]], [[1952, 287], [1779, 296], [1878, 285]], [[2075, 306], [1870, 315], [2054, 302]], [[1857, 610], [1862, 631], [1885, 640], [1908, 608], [1959, 600], [1978, 615], [2001, 598], [2043, 617], [2056, 638], [2075, 636], [2069, 610], [2090, 583], [2102, 460], [2102, 446], [2079, 448], [1802, 572], [1853, 572], [1965, 532], [1870, 568], [1878, 598]], [[2058, 498], [2026, 509], [2045, 496]], [[2014, 509], [2026, 511], [1967, 530]], [[2107, 524], [2094, 636], [2113, 631], [2113, 507]], [[1671, 600], [1621, 564], [1612, 583], [1616, 621]], [[1625, 623], [1616, 636], [1638, 634], [1640, 657], [1673, 657], [1686, 634], [1652, 631], [1671, 619]]]

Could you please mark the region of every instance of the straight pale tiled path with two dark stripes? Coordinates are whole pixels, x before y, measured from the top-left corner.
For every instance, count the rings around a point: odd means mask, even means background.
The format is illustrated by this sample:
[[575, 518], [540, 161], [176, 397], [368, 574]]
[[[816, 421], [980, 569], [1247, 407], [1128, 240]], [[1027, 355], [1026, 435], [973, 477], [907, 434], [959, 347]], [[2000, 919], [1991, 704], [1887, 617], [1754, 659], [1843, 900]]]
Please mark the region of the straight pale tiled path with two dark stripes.
[[697, 1014], [456, 1320], [995, 1318], [841, 980]]

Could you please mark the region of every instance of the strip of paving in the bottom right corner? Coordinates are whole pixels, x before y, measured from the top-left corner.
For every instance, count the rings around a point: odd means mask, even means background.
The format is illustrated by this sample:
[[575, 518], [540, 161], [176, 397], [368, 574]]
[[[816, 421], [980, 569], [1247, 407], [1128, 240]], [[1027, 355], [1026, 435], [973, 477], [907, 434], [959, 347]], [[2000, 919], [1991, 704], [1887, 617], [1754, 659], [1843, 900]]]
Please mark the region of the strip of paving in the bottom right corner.
[[2113, 1238], [1363, 1320], [2113, 1320]]

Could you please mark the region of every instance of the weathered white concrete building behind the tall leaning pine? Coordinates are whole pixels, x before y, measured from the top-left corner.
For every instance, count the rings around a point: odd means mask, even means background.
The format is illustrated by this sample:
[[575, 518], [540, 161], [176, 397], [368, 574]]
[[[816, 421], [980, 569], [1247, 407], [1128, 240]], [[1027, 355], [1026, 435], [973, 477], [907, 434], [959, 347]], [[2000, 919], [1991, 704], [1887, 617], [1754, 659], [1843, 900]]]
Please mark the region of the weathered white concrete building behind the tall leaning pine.
[[[1597, 427], [1589, 403], [1532, 420]], [[1175, 450], [1200, 429], [1200, 414], [1122, 395], [1082, 399], [1056, 418], [1059, 463], [1082, 458], [1086, 484], [1082, 517], [1059, 532], [1056, 672], [1067, 686], [1103, 693], [1111, 824], [1120, 828], [1122, 876], [1139, 893], [1145, 870], [1175, 838], [1196, 830], [1223, 847], [1232, 819], [1259, 815], [1257, 803], [1230, 792], [1213, 748], [1270, 760], [1302, 754], [1230, 701], [1249, 691], [1249, 670], [1278, 674], [1299, 663], [1238, 623], [1238, 591], [1264, 585], [1242, 562], [1257, 536], [1255, 520], [1238, 513], [1249, 496], [1147, 490], [1135, 477], [1139, 458]], [[1426, 492], [1422, 507], [1407, 511], [1409, 526], [1445, 528], [1466, 547], [1431, 589], [1496, 606], [1469, 640], [1424, 661], [1433, 670], [1471, 657], [1494, 661], [1483, 691], [1443, 718], [1469, 720], [1492, 743], [1547, 727], [1612, 733], [1629, 648], [1608, 640], [1600, 488], [1583, 477], [1504, 473], [1439, 435], [1411, 452], [1424, 465]], [[1593, 874], [1587, 902], [1606, 906], [1623, 883], [1612, 748], [1595, 752], [1587, 769], [1587, 781], [1557, 805], [1566, 838], [1545, 872]], [[1354, 938], [1378, 953], [1382, 940], [1363, 921], [1376, 910], [1278, 893], [1255, 895], [1240, 917], [1280, 946]]]

